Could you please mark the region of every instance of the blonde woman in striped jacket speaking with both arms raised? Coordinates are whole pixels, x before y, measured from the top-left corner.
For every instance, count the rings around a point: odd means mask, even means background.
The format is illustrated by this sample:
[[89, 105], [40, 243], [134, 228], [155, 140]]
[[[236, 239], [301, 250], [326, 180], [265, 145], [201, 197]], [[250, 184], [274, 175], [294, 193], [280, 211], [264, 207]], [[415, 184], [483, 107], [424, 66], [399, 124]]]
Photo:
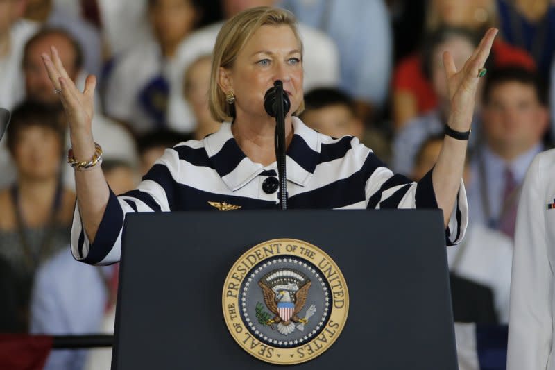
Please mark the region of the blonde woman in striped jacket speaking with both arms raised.
[[83, 92], [77, 90], [51, 49], [42, 58], [71, 128], [74, 256], [92, 264], [119, 260], [128, 212], [278, 208], [275, 121], [264, 109], [264, 95], [278, 80], [291, 101], [285, 117], [289, 208], [441, 208], [448, 242], [459, 242], [468, 220], [461, 177], [475, 92], [496, 33], [486, 33], [460, 71], [449, 53], [443, 56], [452, 96], [443, 149], [434, 169], [411, 183], [355, 137], [321, 135], [296, 117], [304, 72], [293, 15], [267, 7], [241, 12], [221, 28], [214, 46], [209, 103], [221, 129], [167, 149], [139, 187], [121, 196], [106, 184], [101, 143], [91, 133], [96, 80], [89, 76]]

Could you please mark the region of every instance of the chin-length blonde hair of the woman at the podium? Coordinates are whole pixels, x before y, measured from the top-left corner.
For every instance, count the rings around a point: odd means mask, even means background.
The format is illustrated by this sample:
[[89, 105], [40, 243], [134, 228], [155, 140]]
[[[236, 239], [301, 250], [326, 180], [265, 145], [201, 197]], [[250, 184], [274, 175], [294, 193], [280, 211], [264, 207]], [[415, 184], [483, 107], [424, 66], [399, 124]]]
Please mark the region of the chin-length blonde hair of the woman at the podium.
[[[291, 31], [293, 31], [300, 45], [302, 56], [303, 48], [297, 29], [297, 21], [295, 16], [287, 10], [259, 6], [240, 12], [228, 22], [225, 22], [218, 33], [216, 44], [214, 44], [210, 92], [208, 94], [210, 114], [216, 121], [232, 121], [235, 117], [234, 104], [225, 101], [225, 92], [221, 90], [218, 84], [220, 67], [226, 69], [233, 67], [239, 51], [243, 49], [258, 28], [266, 25], [291, 27]], [[302, 110], [305, 110], [305, 101], [300, 103], [299, 108], [293, 112], [293, 115], [300, 114]]]

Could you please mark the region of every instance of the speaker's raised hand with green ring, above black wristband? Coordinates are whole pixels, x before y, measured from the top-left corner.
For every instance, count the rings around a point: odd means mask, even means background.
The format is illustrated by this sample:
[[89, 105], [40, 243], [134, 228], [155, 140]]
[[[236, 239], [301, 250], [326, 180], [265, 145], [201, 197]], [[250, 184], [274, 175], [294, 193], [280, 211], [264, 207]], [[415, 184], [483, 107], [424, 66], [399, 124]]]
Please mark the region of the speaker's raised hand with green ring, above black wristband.
[[470, 130], [475, 95], [480, 80], [479, 73], [490, 55], [495, 35], [497, 35], [497, 29], [490, 28], [460, 71], [456, 70], [451, 53], [449, 51], [443, 53], [443, 66], [451, 97], [451, 115], [448, 124], [456, 131]]

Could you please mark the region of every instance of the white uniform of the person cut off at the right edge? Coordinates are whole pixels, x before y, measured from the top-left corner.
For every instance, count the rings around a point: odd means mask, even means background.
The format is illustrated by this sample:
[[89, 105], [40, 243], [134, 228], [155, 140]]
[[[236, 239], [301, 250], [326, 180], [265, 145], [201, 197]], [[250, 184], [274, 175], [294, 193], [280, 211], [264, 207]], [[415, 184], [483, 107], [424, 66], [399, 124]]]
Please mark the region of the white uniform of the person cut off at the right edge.
[[555, 149], [529, 167], [515, 231], [507, 370], [555, 369]]

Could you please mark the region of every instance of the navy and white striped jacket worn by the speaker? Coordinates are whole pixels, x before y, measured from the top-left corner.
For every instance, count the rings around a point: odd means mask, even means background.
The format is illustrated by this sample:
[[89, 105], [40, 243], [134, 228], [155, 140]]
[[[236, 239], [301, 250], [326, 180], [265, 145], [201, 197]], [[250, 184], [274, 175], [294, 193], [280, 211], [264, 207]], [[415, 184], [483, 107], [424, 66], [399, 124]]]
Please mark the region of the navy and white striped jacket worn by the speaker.
[[[293, 140], [287, 150], [289, 208], [364, 209], [437, 208], [431, 171], [418, 183], [395, 175], [356, 137], [340, 139], [317, 133], [293, 117]], [[266, 194], [262, 183], [278, 176], [275, 162], [264, 167], [239, 149], [231, 124], [202, 141], [167, 149], [136, 190], [110, 198], [91, 244], [78, 208], [71, 230], [74, 257], [91, 264], [117, 262], [121, 230], [128, 212], [214, 210], [208, 202], [240, 205], [241, 210], [278, 209], [278, 192]], [[462, 185], [450, 223], [447, 244], [458, 243], [468, 223]]]

